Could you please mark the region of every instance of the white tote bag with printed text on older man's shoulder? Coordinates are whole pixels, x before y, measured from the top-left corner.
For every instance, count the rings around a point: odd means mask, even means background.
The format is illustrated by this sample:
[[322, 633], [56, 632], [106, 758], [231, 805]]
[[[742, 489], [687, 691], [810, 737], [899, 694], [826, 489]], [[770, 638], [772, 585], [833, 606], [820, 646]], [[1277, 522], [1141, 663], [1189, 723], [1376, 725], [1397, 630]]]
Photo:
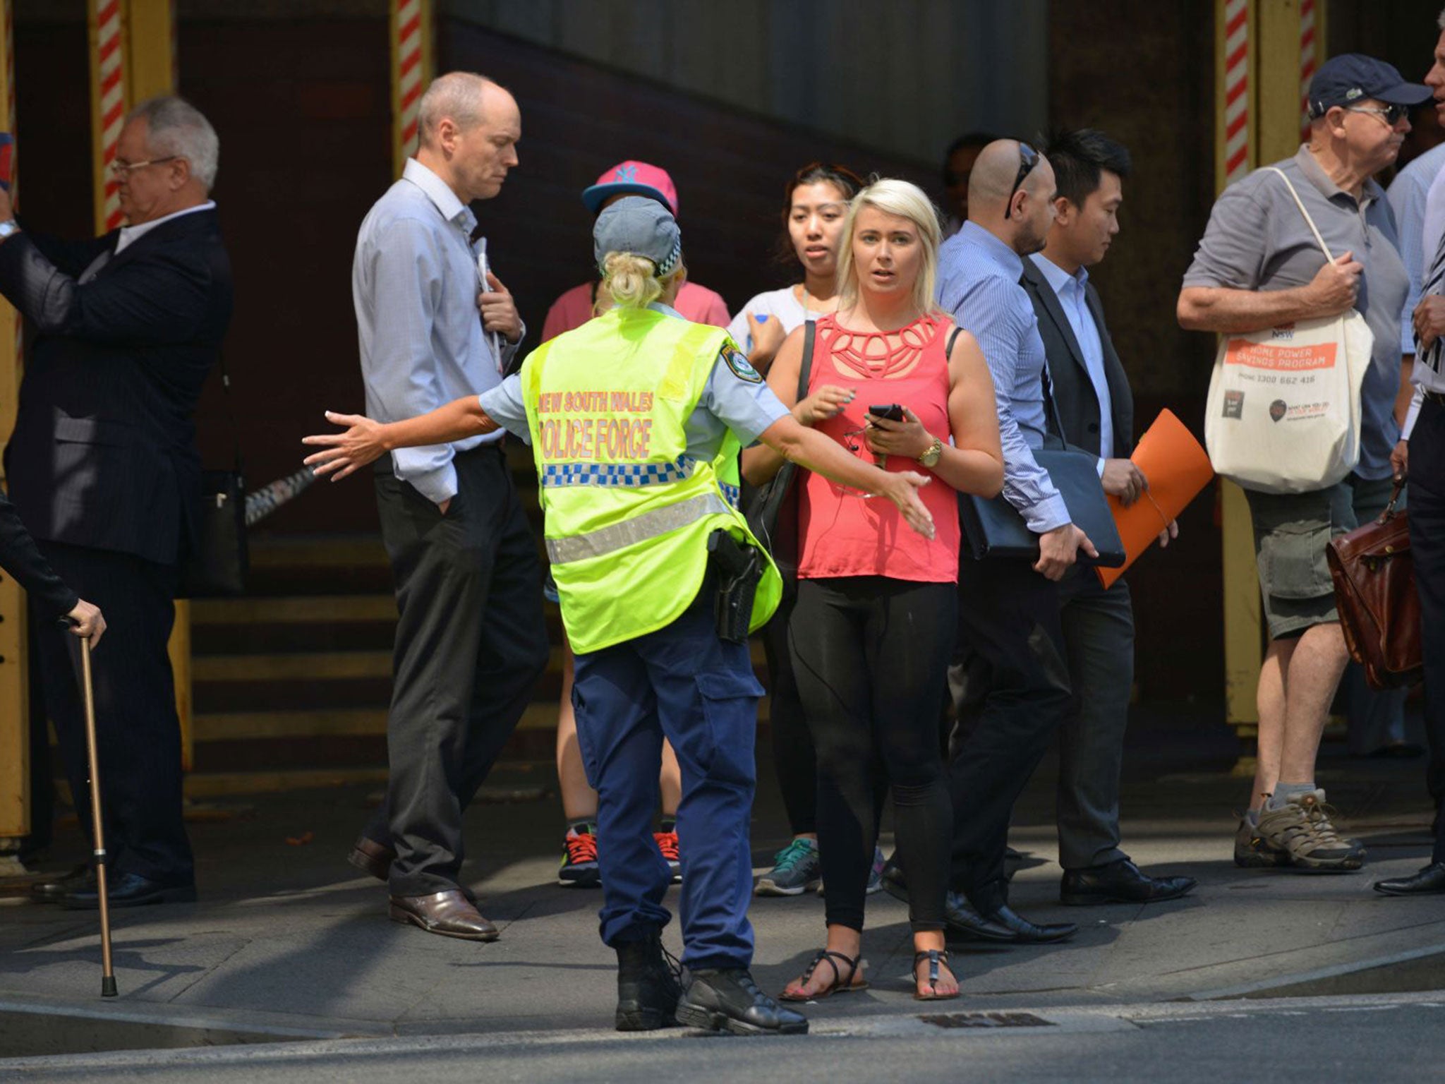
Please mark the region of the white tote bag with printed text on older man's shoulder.
[[[1299, 192], [1273, 172], [1332, 262]], [[1360, 461], [1360, 387], [1373, 348], [1374, 334], [1355, 309], [1221, 335], [1204, 419], [1215, 473], [1260, 493], [1341, 481]]]

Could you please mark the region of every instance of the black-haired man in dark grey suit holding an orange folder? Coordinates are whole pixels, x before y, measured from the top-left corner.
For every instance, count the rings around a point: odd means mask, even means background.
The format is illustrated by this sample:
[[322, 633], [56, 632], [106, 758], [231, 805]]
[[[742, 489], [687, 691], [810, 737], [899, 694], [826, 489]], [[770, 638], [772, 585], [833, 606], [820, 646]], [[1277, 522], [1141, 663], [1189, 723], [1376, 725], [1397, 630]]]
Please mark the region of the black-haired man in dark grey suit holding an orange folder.
[[[1098, 132], [1061, 132], [1045, 152], [1056, 179], [1055, 220], [1043, 251], [1023, 262], [1022, 285], [1039, 315], [1058, 434], [1098, 457], [1104, 490], [1126, 504], [1149, 481], [1127, 458], [1134, 397], [1104, 325], [1088, 270], [1118, 233], [1129, 152]], [[1160, 538], [1166, 543], [1170, 529]], [[1120, 850], [1118, 775], [1134, 679], [1134, 614], [1129, 584], [1105, 590], [1075, 565], [1059, 582], [1074, 702], [1059, 730], [1059, 864], [1065, 903], [1176, 899], [1192, 877], [1146, 876]]]

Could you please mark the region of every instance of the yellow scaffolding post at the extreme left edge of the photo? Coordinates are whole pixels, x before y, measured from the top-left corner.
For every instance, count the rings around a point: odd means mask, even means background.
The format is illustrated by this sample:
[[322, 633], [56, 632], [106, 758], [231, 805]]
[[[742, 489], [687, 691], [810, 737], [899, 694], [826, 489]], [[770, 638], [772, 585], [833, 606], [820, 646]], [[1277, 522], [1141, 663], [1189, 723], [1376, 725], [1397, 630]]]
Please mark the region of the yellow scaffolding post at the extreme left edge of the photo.
[[[13, 3], [0, 0], [4, 58], [0, 61], [0, 108], [4, 130], [14, 132]], [[12, 162], [10, 197], [16, 197], [19, 156]], [[20, 318], [0, 299], [0, 434], [14, 428], [20, 392]], [[0, 873], [19, 873], [14, 843], [30, 831], [30, 701], [26, 681], [25, 591], [0, 574]], [[13, 869], [10, 869], [13, 867]]]

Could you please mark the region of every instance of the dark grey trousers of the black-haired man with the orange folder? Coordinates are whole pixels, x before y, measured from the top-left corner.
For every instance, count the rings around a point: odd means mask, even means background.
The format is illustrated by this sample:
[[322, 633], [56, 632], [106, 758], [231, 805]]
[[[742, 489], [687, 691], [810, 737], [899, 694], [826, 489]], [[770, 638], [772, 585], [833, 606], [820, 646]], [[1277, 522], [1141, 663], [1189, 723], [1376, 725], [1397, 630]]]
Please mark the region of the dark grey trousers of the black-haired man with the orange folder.
[[1059, 584], [1059, 620], [1074, 695], [1059, 727], [1059, 864], [1066, 870], [1127, 859], [1118, 847], [1118, 776], [1134, 682], [1129, 584], [1104, 590], [1092, 568]]

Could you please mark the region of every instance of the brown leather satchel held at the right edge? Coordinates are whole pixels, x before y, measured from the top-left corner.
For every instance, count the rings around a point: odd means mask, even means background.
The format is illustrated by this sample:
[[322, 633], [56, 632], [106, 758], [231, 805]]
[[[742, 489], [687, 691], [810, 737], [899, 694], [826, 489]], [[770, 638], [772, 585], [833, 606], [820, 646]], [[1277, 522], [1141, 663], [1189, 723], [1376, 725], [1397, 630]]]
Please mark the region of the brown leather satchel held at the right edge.
[[1410, 685], [1423, 671], [1409, 512], [1394, 510], [1403, 484], [1377, 520], [1331, 539], [1325, 551], [1345, 646], [1376, 689]]

